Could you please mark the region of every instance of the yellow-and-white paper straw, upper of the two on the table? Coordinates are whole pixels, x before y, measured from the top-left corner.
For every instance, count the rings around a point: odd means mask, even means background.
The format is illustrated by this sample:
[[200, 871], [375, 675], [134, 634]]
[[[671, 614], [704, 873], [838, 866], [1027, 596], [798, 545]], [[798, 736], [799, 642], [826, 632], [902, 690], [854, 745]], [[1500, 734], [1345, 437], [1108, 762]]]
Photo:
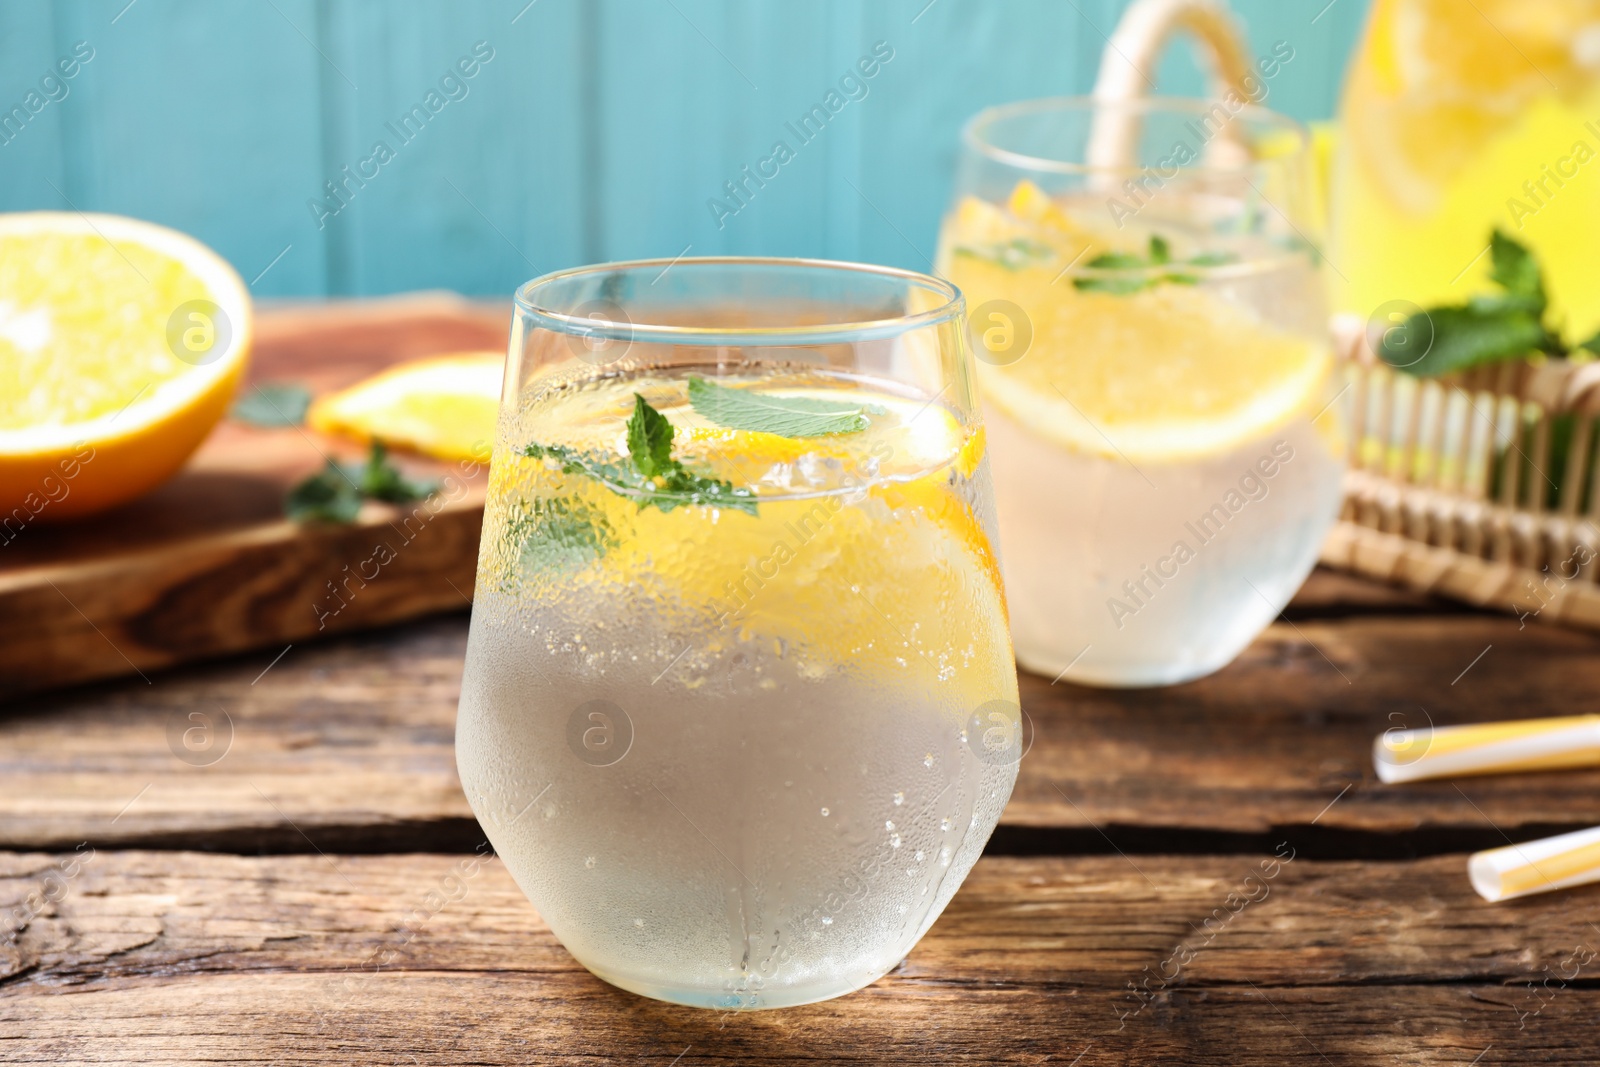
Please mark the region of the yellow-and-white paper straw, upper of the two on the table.
[[1600, 715], [1390, 729], [1373, 741], [1379, 781], [1600, 766]]

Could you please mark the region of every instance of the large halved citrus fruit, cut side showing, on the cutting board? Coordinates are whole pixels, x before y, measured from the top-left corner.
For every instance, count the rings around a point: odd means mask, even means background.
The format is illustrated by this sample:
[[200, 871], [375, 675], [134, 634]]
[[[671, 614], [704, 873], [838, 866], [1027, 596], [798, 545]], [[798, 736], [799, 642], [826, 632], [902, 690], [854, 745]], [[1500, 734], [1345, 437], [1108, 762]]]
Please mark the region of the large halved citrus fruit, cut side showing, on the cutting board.
[[227, 410], [250, 293], [200, 242], [114, 214], [0, 216], [0, 522], [171, 477]]

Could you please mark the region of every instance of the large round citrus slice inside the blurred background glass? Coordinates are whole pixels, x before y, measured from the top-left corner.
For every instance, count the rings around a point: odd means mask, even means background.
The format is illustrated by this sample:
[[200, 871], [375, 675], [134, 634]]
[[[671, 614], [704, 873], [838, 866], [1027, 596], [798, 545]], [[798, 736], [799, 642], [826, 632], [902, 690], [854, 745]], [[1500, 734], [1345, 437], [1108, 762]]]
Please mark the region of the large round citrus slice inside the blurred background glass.
[[1046, 285], [1032, 296], [1018, 296], [1032, 315], [1026, 357], [984, 365], [979, 384], [1019, 426], [1078, 453], [1133, 462], [1224, 453], [1314, 416], [1331, 366], [1326, 346], [1195, 286]]

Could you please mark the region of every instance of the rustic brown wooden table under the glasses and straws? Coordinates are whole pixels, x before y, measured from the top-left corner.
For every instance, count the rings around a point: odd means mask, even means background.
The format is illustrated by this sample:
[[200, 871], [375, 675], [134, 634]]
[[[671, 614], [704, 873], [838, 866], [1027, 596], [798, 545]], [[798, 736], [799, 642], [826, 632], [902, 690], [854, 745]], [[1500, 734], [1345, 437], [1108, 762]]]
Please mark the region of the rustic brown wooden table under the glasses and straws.
[[[875, 985], [757, 1014], [605, 985], [480, 857], [464, 640], [454, 614], [5, 709], [0, 1061], [1600, 1057], [1600, 889], [1490, 905], [1464, 870], [1600, 824], [1600, 773], [1386, 787], [1368, 755], [1600, 710], [1600, 638], [1318, 573], [1213, 678], [1024, 675], [1037, 741], [944, 917]], [[168, 742], [194, 712], [206, 765]]]

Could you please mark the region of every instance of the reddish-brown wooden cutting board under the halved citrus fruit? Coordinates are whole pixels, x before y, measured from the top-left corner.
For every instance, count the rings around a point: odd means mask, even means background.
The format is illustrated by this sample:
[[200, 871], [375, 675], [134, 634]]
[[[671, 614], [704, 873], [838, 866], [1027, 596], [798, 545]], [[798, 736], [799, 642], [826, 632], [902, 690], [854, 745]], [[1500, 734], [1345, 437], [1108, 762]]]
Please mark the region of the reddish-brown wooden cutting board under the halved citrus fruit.
[[[509, 306], [451, 294], [258, 312], [245, 390], [312, 394], [390, 363], [461, 349], [506, 350]], [[243, 395], [243, 390], [242, 390]], [[485, 472], [395, 456], [450, 491], [427, 504], [368, 502], [347, 526], [283, 518], [285, 491], [325, 458], [365, 446], [304, 427], [224, 421], [184, 470], [101, 515], [42, 515], [0, 544], [0, 701], [141, 675], [470, 603]]]

